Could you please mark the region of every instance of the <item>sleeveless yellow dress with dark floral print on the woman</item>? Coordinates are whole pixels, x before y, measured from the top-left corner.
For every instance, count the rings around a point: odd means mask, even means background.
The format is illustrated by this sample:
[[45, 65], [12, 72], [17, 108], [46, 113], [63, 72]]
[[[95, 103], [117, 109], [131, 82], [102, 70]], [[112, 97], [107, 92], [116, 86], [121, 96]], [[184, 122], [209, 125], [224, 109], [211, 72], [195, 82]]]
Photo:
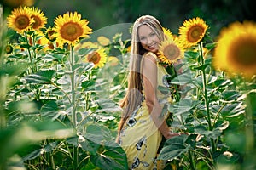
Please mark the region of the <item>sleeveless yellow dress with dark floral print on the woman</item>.
[[[158, 85], [164, 86], [162, 79], [167, 73], [158, 62], [157, 71]], [[158, 90], [157, 98], [160, 99], [161, 96], [163, 94]], [[156, 169], [156, 156], [161, 140], [162, 135], [151, 119], [144, 100], [125, 122], [119, 134], [119, 144], [125, 150], [129, 169]]]

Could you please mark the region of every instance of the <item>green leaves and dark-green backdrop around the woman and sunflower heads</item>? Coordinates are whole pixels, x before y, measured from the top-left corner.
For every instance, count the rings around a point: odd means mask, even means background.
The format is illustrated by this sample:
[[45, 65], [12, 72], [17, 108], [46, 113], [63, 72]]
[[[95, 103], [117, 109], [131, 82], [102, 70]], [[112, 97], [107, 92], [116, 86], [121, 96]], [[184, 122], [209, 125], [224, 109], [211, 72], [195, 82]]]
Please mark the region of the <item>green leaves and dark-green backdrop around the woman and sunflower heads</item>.
[[[119, 58], [119, 64], [93, 69], [82, 61], [91, 49], [55, 48], [45, 53], [41, 45], [28, 44], [24, 35], [19, 43], [34, 52], [33, 60], [26, 52], [3, 54], [1, 44], [0, 169], [127, 169], [125, 152], [114, 139], [118, 102], [125, 94], [129, 23], [152, 14], [177, 33], [183, 20], [201, 17], [214, 39], [233, 21], [255, 20], [252, 0], [40, 0], [33, 6], [44, 12], [48, 27], [67, 11], [82, 14], [96, 32], [92, 37], [108, 35], [111, 43], [104, 48]], [[12, 10], [4, 3], [3, 9], [5, 16]], [[7, 37], [13, 33], [9, 31]], [[1, 42], [7, 42], [4, 36]], [[205, 48], [212, 50], [214, 42], [207, 42]], [[172, 80], [187, 84], [189, 94], [166, 105], [174, 114], [172, 127], [191, 134], [161, 145], [159, 159], [170, 161], [166, 168], [255, 167], [255, 81], [224, 77], [212, 69], [211, 59], [187, 51], [183, 74]]]

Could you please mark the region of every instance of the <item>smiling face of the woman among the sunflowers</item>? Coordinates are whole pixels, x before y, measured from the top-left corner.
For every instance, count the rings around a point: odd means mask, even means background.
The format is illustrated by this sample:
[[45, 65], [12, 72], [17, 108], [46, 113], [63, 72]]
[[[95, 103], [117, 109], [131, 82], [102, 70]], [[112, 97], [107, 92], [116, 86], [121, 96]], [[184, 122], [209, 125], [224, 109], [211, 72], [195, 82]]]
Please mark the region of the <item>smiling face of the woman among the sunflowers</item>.
[[144, 49], [153, 53], [158, 51], [160, 39], [155, 31], [153, 31], [149, 26], [143, 25], [138, 28], [137, 33], [138, 40], [141, 42]]

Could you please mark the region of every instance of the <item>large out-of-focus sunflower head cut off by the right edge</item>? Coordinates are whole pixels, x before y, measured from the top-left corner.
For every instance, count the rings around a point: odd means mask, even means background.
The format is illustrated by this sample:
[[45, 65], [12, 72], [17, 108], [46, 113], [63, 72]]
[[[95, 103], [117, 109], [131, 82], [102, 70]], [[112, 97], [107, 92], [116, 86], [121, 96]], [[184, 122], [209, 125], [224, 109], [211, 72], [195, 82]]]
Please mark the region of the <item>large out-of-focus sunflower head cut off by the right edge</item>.
[[230, 74], [256, 75], [256, 23], [234, 22], [222, 29], [212, 64]]

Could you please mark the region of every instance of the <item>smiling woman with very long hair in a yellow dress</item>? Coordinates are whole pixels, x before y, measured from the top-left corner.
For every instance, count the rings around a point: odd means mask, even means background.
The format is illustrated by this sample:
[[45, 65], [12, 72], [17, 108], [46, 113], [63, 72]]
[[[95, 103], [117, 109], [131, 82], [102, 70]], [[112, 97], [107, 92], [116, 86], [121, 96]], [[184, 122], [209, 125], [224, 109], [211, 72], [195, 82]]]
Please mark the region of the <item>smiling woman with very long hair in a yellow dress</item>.
[[159, 99], [164, 95], [157, 89], [163, 86], [167, 73], [159, 64], [157, 53], [164, 34], [160, 22], [153, 16], [138, 18], [131, 33], [131, 60], [128, 90], [121, 104], [117, 142], [125, 150], [130, 169], [156, 169], [156, 156], [162, 136], [172, 133], [162, 116]]

